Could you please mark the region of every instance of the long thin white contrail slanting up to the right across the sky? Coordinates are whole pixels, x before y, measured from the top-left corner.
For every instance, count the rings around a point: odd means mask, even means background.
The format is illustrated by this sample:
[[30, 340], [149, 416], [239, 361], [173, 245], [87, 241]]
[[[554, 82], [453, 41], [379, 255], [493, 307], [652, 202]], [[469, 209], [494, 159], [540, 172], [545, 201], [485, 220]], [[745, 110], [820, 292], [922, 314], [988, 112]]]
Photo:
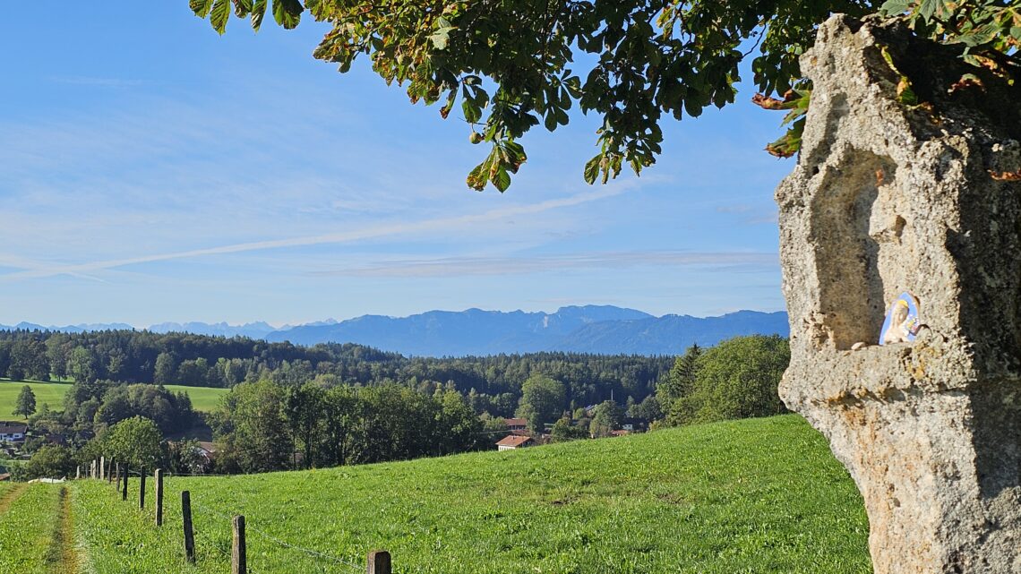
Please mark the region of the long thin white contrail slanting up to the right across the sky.
[[[549, 199], [539, 203], [529, 205], [518, 205], [514, 207], [501, 207], [490, 209], [481, 213], [468, 216], [457, 216], [455, 218], [439, 218], [415, 223], [397, 223], [381, 225], [376, 227], [355, 229], [338, 233], [327, 233], [323, 235], [310, 235], [305, 237], [292, 237], [290, 239], [272, 239], [269, 241], [253, 241], [248, 243], [235, 243], [233, 245], [221, 245], [218, 247], [207, 247], [204, 249], [191, 249], [188, 251], [176, 251], [171, 253], [156, 253], [153, 255], [140, 255], [137, 257], [126, 257], [123, 259], [108, 259], [102, 261], [92, 261], [86, 264], [58, 265], [49, 267], [39, 267], [38, 265], [13, 265], [25, 271], [8, 273], [0, 276], [0, 281], [12, 281], [17, 279], [31, 279], [42, 277], [53, 277], [56, 275], [82, 275], [90, 272], [120, 268], [138, 264], [150, 264], [155, 261], [165, 261], [171, 259], [186, 259], [201, 257], [204, 255], [221, 255], [225, 253], [241, 253], [245, 251], [259, 251], [263, 249], [280, 249], [284, 247], [302, 247], [307, 245], [322, 245], [326, 243], [349, 243], [389, 235], [400, 235], [405, 233], [433, 231], [446, 229], [452, 226], [464, 224], [477, 224], [512, 218], [516, 216], [528, 216], [556, 209], [560, 207], [570, 207], [612, 197], [624, 193], [625, 188], [616, 187], [614, 189], [603, 189], [593, 193], [581, 193], [563, 199]], [[5, 258], [0, 255], [0, 259]], [[8, 262], [13, 262], [10, 258]], [[15, 259], [16, 260], [16, 259]]]

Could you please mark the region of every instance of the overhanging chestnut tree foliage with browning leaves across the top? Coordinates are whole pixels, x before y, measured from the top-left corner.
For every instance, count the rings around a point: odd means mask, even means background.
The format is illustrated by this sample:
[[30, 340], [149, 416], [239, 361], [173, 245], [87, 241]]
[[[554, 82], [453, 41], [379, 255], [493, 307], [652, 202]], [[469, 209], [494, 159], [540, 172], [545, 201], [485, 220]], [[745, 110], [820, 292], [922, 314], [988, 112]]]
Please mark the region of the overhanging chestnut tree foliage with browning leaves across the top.
[[[220, 33], [233, 12], [258, 29], [268, 8], [284, 28], [304, 11], [332, 30], [314, 51], [340, 71], [366, 57], [412, 103], [440, 103], [489, 152], [468, 177], [503, 191], [527, 159], [519, 140], [554, 131], [580, 109], [601, 117], [598, 152], [584, 178], [605, 183], [628, 164], [639, 174], [662, 152], [662, 122], [697, 116], [736, 96], [739, 64], [751, 58], [765, 98], [792, 102], [788, 133], [770, 151], [797, 149], [810, 88], [798, 56], [832, 13], [883, 10], [915, 31], [958, 43], [976, 65], [1010, 73], [1021, 41], [1021, 0], [190, 0]], [[788, 93], [797, 88], [796, 101]]]

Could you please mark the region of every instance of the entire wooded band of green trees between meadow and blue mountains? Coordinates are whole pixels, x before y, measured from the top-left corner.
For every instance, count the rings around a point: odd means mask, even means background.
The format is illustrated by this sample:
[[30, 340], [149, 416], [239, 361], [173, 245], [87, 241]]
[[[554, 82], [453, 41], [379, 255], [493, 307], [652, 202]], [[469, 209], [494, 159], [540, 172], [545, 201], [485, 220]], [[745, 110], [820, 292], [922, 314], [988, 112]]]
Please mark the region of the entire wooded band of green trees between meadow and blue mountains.
[[[692, 346], [677, 360], [564, 352], [409, 358], [353, 344], [0, 332], [0, 372], [74, 380], [59, 404], [38, 409], [32, 389], [22, 388], [15, 414], [34, 431], [26, 450], [40, 450], [22, 477], [65, 475], [76, 460], [103, 453], [139, 468], [250, 473], [491, 449], [522, 427], [537, 440], [561, 442], [768, 416], [785, 412], [776, 386], [788, 358], [786, 340], [775, 335], [737, 337], [704, 351]], [[186, 392], [168, 390], [173, 384], [230, 392], [202, 414]], [[510, 428], [507, 418], [524, 422]], [[128, 434], [113, 440], [117, 433]], [[215, 441], [210, 461], [196, 460], [196, 444], [180, 441], [200, 436]], [[175, 442], [161, 445], [167, 438]], [[148, 447], [139, 446], [142, 439]]]

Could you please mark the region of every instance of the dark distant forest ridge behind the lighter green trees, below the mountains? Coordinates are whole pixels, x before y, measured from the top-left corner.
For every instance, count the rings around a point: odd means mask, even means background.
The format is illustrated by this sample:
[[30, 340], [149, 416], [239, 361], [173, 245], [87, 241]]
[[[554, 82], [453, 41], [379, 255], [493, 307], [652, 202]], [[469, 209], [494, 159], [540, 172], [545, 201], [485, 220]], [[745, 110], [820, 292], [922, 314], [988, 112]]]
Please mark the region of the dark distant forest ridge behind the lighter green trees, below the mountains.
[[[478, 413], [512, 417], [534, 374], [565, 385], [567, 406], [616, 397], [641, 401], [655, 391], [672, 357], [537, 352], [466, 357], [405, 357], [353, 343], [310, 347], [246, 337], [147, 331], [0, 331], [0, 375], [12, 380], [109, 380], [231, 388], [270, 379], [283, 386], [408, 384], [424, 392], [450, 386]], [[474, 390], [473, 390], [474, 389]]]

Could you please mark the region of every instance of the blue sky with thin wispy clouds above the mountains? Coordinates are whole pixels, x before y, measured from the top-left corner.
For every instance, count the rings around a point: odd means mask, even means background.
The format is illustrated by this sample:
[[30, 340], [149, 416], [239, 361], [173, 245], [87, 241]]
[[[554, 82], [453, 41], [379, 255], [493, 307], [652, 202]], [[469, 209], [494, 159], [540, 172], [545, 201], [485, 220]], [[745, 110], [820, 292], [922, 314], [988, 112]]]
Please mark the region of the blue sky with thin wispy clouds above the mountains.
[[666, 125], [640, 178], [586, 185], [598, 119], [575, 114], [478, 193], [467, 125], [367, 61], [314, 60], [322, 25], [220, 37], [187, 4], [8, 10], [0, 323], [783, 308], [772, 197], [793, 165], [762, 151], [780, 116], [750, 88]]

